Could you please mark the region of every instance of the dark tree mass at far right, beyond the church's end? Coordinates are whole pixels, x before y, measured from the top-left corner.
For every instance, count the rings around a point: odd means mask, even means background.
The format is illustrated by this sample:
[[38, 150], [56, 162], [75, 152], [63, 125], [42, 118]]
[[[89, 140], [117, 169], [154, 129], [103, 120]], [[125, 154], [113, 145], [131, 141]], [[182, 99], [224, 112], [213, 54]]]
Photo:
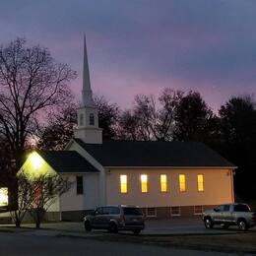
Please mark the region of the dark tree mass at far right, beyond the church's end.
[[256, 198], [256, 103], [250, 96], [230, 98], [220, 111], [220, 140], [216, 149], [238, 169], [235, 191], [245, 199]]

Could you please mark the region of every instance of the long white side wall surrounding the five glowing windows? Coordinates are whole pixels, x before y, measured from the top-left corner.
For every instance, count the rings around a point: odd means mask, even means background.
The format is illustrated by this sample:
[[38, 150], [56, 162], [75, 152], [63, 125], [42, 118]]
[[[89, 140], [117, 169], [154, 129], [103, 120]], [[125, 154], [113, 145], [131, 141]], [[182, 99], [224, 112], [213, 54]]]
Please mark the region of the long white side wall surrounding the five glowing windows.
[[[178, 174], [186, 175], [186, 192], [179, 191]], [[120, 174], [127, 174], [128, 193], [120, 193]], [[148, 174], [148, 193], [141, 192], [140, 174]], [[160, 192], [160, 174], [167, 174], [167, 192]], [[197, 190], [197, 174], [204, 174], [204, 192]], [[141, 207], [218, 205], [232, 202], [228, 169], [111, 169], [106, 174], [107, 204]]]

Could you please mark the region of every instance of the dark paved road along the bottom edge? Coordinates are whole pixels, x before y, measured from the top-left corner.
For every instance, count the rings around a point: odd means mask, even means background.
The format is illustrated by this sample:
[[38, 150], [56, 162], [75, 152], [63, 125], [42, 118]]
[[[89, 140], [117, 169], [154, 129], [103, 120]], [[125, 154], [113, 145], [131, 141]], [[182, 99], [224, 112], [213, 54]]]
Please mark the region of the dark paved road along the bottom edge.
[[43, 235], [32, 233], [0, 233], [0, 255], [2, 256], [68, 256], [68, 255], [103, 255], [103, 256], [128, 256], [128, 255], [184, 255], [184, 256], [214, 256], [233, 255], [217, 252], [203, 252], [196, 250], [181, 250], [150, 246], [142, 244], [96, 241], [83, 238], [56, 237], [51, 232]]

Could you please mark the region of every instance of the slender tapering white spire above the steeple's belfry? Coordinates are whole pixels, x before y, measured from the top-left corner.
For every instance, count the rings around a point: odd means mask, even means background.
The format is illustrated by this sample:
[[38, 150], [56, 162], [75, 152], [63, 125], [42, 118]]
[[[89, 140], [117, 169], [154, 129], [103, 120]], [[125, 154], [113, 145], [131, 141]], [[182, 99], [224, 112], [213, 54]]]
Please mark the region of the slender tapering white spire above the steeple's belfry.
[[94, 99], [93, 99], [93, 92], [92, 92], [92, 89], [91, 89], [91, 82], [90, 82], [86, 35], [84, 35], [84, 64], [83, 64], [82, 104], [83, 104], [83, 106], [95, 106], [95, 102], [94, 102]]

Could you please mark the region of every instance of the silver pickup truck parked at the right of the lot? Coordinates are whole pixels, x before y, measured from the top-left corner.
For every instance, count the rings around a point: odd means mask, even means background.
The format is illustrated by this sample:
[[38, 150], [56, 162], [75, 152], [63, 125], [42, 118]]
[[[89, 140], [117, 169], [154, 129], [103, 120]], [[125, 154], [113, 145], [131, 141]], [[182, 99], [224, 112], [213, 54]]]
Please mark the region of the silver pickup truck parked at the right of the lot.
[[226, 204], [205, 211], [203, 221], [206, 228], [223, 224], [224, 228], [228, 228], [229, 225], [238, 225], [240, 230], [247, 230], [256, 225], [256, 213], [253, 213], [246, 204]]

